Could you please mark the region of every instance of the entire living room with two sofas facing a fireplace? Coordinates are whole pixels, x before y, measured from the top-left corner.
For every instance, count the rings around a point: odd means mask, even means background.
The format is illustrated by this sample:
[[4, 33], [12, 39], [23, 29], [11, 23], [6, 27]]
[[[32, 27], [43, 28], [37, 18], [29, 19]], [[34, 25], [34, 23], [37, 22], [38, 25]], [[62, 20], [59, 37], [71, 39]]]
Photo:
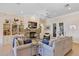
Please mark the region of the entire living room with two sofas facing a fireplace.
[[0, 56], [78, 56], [77, 5], [0, 4]]

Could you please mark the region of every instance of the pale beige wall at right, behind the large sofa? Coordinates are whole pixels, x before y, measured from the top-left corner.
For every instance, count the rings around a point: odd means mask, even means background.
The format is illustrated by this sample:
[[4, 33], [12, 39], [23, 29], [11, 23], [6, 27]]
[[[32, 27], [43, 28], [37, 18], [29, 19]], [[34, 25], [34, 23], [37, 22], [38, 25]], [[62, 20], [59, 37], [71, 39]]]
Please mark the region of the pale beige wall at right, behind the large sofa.
[[[49, 32], [51, 33], [51, 36], [53, 33], [52, 32], [53, 31], [53, 29], [52, 29], [53, 23], [57, 24], [57, 36], [59, 36], [58, 32], [59, 32], [59, 23], [60, 22], [64, 23], [65, 36], [72, 36], [73, 41], [79, 42], [79, 12], [75, 12], [75, 13], [71, 13], [71, 14], [67, 14], [67, 15], [49, 19], [48, 24], [51, 27], [51, 29], [49, 30]], [[76, 29], [73, 29], [73, 28], [71, 29], [70, 27], [72, 25], [75, 25]]]

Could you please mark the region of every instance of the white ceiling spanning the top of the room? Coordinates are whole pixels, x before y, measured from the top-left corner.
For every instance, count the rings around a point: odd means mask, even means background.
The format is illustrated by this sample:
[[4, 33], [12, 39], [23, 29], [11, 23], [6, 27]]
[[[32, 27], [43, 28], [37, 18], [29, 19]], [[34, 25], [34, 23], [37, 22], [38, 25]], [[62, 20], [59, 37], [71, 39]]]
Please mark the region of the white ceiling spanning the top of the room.
[[0, 11], [21, 16], [31, 16], [45, 13], [40, 10], [47, 10], [50, 17], [79, 11], [79, 3], [70, 3], [68, 6], [71, 8], [70, 10], [68, 7], [65, 7], [66, 4], [67, 3], [0, 3]]

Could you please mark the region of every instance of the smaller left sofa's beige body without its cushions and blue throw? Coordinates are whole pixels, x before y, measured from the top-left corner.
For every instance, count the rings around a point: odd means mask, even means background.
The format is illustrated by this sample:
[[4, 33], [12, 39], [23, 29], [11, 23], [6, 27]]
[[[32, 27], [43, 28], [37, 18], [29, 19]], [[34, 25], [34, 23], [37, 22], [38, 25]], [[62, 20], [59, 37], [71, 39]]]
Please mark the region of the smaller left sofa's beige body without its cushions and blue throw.
[[[22, 41], [20, 42], [22, 43]], [[28, 44], [15, 44], [13, 48], [14, 55], [16, 56], [33, 56], [37, 54], [37, 44], [35, 43], [28, 43]]]

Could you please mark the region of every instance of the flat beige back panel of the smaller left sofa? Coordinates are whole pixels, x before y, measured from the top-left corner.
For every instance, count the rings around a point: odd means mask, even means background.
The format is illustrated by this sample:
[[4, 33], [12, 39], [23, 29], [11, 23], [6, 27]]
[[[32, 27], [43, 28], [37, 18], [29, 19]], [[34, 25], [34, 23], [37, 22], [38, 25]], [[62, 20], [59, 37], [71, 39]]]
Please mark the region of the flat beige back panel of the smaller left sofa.
[[32, 55], [32, 44], [24, 44], [17, 47], [17, 56], [31, 56]]

